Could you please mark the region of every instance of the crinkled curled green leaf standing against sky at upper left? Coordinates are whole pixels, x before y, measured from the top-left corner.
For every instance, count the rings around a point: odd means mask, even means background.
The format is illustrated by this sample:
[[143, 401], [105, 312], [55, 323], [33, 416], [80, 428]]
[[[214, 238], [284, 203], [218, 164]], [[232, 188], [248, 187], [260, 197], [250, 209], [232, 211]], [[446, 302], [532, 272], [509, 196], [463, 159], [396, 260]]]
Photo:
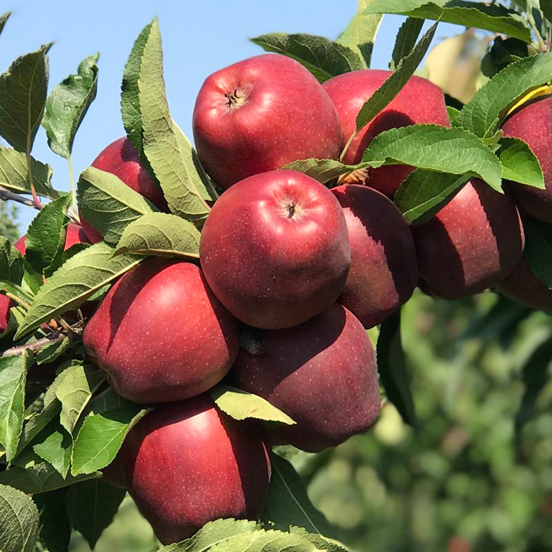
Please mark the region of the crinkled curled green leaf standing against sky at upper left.
[[98, 83], [99, 53], [83, 59], [77, 75], [69, 75], [48, 96], [42, 126], [48, 146], [61, 157], [71, 155], [77, 130], [94, 101]]

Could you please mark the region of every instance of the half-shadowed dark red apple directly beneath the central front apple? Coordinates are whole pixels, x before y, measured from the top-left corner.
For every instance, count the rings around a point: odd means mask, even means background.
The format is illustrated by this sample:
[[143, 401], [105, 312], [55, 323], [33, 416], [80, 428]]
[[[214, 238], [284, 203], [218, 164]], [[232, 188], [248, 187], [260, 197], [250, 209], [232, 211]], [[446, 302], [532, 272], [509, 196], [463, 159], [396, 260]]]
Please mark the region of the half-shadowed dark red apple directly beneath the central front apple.
[[380, 413], [375, 353], [351, 311], [336, 303], [297, 328], [249, 337], [233, 378], [297, 422], [277, 428], [279, 440], [317, 452], [373, 426]]

